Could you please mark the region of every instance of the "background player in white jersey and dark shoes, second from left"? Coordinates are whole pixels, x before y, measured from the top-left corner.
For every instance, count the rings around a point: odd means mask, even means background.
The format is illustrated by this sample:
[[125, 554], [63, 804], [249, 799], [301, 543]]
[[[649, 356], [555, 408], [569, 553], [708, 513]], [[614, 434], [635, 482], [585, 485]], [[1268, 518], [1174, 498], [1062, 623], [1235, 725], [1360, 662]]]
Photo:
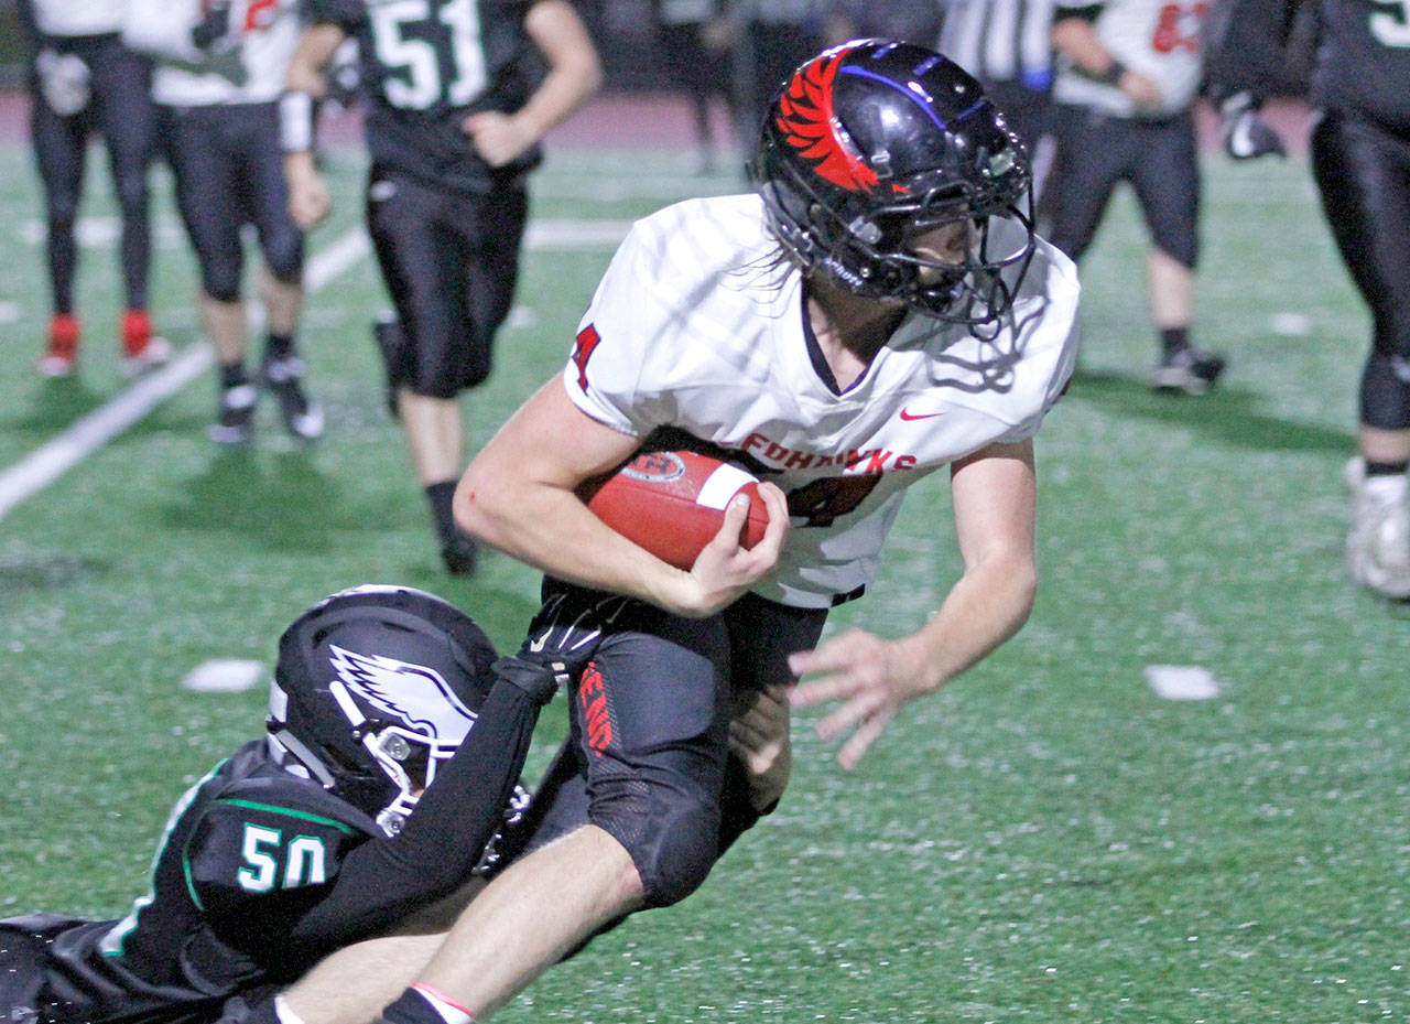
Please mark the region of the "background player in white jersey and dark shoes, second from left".
[[[278, 100], [298, 45], [300, 0], [128, 0], [124, 38], [157, 59], [152, 96], [176, 203], [200, 265], [200, 322], [216, 350], [219, 408], [210, 437], [247, 444], [258, 388], [279, 401], [300, 441], [323, 434], [323, 410], [303, 389], [295, 348], [303, 307], [303, 236], [289, 216]], [[264, 252], [264, 357], [245, 365], [241, 230]], [[257, 386], [258, 385], [258, 386]]]

